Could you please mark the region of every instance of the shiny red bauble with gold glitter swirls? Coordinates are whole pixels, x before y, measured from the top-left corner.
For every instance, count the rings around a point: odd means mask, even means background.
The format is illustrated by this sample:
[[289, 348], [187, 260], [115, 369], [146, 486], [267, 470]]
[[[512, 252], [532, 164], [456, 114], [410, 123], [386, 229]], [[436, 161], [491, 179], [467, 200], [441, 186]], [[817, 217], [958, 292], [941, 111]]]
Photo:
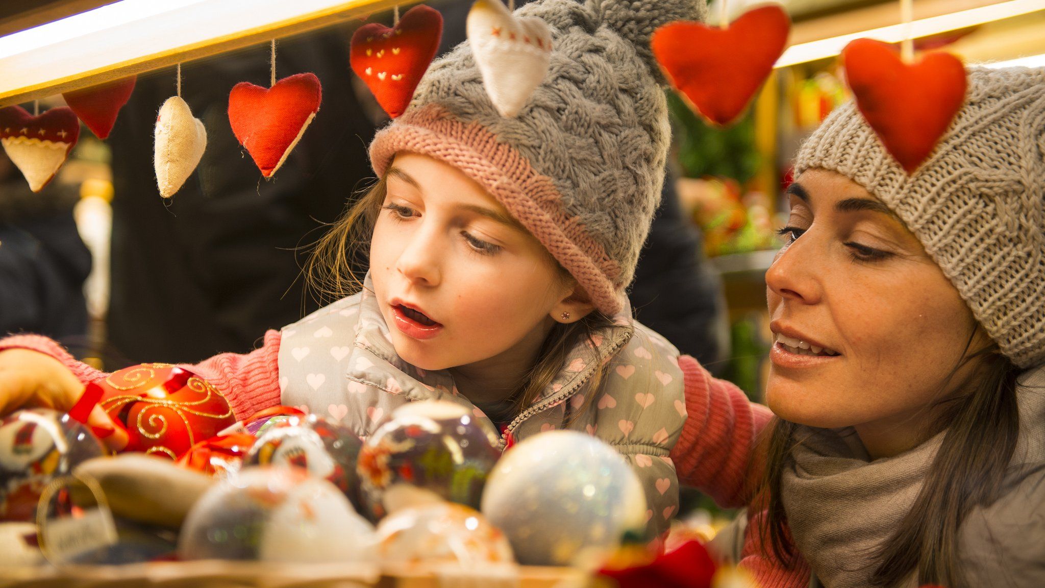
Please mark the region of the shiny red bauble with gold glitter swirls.
[[92, 386], [101, 388], [101, 408], [126, 429], [124, 451], [178, 459], [236, 422], [222, 392], [184, 367], [143, 363]]

